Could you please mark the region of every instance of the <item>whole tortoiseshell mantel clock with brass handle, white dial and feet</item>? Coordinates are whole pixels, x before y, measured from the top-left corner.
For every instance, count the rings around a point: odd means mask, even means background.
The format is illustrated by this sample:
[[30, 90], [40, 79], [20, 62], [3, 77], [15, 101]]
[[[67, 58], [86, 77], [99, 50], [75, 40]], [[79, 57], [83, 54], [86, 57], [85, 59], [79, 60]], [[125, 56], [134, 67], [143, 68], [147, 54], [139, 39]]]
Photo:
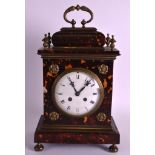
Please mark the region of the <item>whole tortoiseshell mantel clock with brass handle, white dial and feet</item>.
[[[90, 14], [82, 27], [67, 18], [70, 11]], [[43, 105], [34, 135], [36, 151], [42, 143], [111, 144], [117, 152], [120, 134], [111, 116], [113, 62], [119, 51], [115, 38], [85, 27], [93, 19], [85, 6], [71, 6], [64, 12], [71, 28], [45, 34], [38, 54], [43, 59]], [[53, 45], [51, 45], [51, 43]]]

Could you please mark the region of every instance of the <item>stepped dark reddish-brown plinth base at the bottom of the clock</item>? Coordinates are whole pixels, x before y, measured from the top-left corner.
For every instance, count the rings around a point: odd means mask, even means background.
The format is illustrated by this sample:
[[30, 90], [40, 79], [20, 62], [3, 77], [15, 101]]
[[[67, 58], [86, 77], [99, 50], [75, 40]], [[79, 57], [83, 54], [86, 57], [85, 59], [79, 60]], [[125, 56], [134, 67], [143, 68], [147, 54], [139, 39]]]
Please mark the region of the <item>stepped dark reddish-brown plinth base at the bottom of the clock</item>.
[[[64, 143], [64, 144], [119, 144], [120, 143], [120, 134], [114, 123], [114, 120], [111, 120], [110, 128], [91, 128], [87, 129], [61, 129], [53, 128], [54, 125], [44, 124], [44, 117], [41, 116], [37, 129], [34, 135], [35, 143]], [[37, 146], [39, 147], [39, 146]], [[116, 152], [118, 150], [116, 146], [112, 145], [109, 148], [110, 152]]]

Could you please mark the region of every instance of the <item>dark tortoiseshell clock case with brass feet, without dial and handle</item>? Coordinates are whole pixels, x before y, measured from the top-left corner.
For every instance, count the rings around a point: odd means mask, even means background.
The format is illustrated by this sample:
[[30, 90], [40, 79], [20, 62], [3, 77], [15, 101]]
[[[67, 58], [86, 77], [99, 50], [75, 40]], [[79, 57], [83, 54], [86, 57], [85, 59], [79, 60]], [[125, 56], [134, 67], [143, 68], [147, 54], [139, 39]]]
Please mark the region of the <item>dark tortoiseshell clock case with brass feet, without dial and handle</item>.
[[[82, 7], [76, 6], [74, 10], [83, 10]], [[92, 17], [92, 12], [87, 11]], [[111, 107], [113, 62], [120, 54], [114, 48], [114, 38], [110, 41], [109, 38], [95, 28], [75, 28], [74, 25], [62, 28], [52, 37], [45, 35], [44, 47], [38, 50], [43, 59], [44, 113], [35, 131], [36, 151], [43, 150], [41, 143], [112, 144], [109, 151], [118, 151], [115, 144], [120, 143], [120, 134], [111, 116]], [[54, 46], [50, 45], [51, 41]], [[52, 86], [56, 78], [74, 68], [92, 71], [104, 88], [100, 107], [93, 114], [81, 118], [63, 114], [52, 100]]]

